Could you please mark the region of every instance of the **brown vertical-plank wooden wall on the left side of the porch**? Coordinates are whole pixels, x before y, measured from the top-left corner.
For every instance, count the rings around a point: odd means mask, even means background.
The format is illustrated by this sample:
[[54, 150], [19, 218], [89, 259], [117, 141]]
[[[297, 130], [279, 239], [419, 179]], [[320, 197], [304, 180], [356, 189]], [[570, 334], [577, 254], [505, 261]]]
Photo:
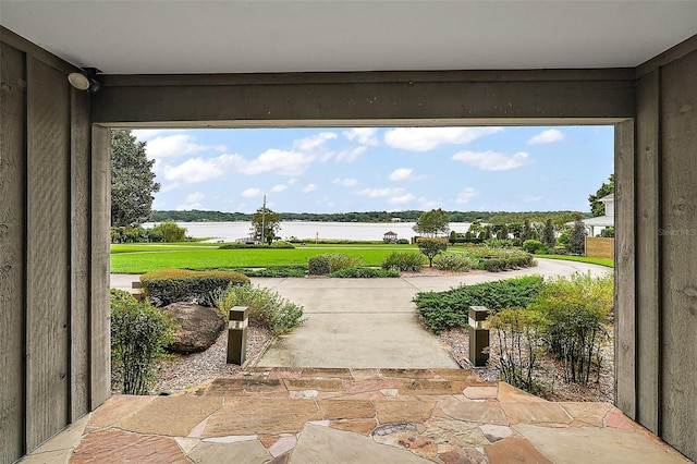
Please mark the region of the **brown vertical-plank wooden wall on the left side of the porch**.
[[74, 69], [1, 33], [0, 462], [10, 463], [110, 394], [109, 217], [93, 212], [108, 209], [109, 157], [93, 162], [89, 94], [68, 83]]

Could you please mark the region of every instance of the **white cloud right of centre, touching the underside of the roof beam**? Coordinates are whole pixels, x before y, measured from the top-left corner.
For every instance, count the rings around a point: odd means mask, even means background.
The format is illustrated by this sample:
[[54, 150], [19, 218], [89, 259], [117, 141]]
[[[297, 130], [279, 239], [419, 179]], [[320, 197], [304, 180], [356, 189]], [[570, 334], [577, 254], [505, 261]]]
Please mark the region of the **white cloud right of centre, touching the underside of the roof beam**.
[[386, 132], [384, 143], [392, 148], [428, 151], [440, 145], [464, 145], [496, 134], [503, 127], [398, 127]]

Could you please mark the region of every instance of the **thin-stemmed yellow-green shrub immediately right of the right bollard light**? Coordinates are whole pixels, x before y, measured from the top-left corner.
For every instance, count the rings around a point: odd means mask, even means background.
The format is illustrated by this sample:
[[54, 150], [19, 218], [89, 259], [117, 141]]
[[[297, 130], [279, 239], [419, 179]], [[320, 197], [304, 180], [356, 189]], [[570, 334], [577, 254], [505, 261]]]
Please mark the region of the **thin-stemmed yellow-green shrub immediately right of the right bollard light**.
[[538, 393], [535, 370], [545, 326], [541, 315], [529, 309], [503, 309], [487, 321], [497, 331], [499, 343], [493, 349], [498, 350], [501, 378], [513, 387]]

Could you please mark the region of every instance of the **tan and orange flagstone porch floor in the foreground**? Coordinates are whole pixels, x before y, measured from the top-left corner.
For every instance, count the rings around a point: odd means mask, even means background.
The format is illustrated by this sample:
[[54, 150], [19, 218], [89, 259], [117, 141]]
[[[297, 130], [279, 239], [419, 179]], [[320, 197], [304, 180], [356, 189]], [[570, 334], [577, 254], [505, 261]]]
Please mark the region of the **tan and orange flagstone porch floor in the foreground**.
[[684, 463], [607, 403], [550, 403], [462, 369], [248, 369], [114, 395], [24, 463]]

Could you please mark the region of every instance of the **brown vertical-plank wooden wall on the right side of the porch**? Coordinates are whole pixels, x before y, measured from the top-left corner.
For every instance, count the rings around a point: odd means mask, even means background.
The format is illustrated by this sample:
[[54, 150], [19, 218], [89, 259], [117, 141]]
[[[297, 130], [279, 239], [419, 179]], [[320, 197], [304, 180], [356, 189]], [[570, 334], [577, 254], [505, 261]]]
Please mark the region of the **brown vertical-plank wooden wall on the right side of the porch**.
[[[617, 404], [697, 460], [697, 37], [637, 69], [635, 156], [616, 199]], [[623, 175], [621, 175], [623, 173]], [[626, 173], [626, 175], [624, 174]], [[616, 193], [615, 193], [616, 195]]]

